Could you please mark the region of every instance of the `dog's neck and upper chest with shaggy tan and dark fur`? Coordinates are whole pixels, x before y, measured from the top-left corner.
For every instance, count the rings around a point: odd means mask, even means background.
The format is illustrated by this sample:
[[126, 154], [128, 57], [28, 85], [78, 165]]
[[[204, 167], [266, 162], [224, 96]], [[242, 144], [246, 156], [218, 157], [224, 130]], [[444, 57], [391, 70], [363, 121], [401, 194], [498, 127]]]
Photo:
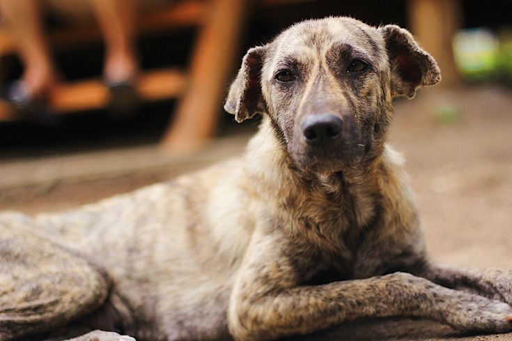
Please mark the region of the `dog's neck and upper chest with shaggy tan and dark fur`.
[[[251, 192], [263, 205], [272, 203], [267, 209], [284, 219], [281, 223], [289, 233], [302, 230], [333, 254], [354, 253], [365, 233], [392, 214], [384, 208], [403, 203], [397, 196], [409, 196], [401, 156], [388, 145], [364, 169], [323, 175], [295, 167], [268, 122], [262, 123], [248, 148], [245, 173], [254, 184]], [[414, 216], [408, 214], [403, 219]]]

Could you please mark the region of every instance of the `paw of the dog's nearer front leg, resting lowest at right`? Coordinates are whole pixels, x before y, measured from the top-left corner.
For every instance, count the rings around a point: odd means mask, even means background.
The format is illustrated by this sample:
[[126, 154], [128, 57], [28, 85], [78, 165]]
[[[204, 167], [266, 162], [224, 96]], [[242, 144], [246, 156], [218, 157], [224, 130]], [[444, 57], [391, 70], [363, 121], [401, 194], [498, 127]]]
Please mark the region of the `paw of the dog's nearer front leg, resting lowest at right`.
[[507, 333], [512, 331], [512, 307], [507, 303], [474, 296], [447, 316], [447, 323], [465, 332]]

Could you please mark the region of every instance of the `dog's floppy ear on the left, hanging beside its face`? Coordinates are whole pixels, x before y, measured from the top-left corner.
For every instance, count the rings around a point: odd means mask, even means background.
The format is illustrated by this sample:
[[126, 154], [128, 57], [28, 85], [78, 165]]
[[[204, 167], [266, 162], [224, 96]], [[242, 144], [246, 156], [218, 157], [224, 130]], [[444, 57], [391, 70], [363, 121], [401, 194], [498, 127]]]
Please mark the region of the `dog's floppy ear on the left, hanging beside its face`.
[[224, 110], [235, 115], [237, 122], [266, 112], [261, 94], [261, 67], [266, 50], [266, 46], [258, 46], [247, 51], [242, 59], [242, 67], [229, 88]]

